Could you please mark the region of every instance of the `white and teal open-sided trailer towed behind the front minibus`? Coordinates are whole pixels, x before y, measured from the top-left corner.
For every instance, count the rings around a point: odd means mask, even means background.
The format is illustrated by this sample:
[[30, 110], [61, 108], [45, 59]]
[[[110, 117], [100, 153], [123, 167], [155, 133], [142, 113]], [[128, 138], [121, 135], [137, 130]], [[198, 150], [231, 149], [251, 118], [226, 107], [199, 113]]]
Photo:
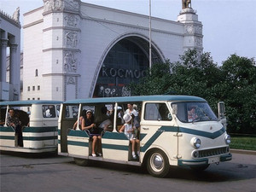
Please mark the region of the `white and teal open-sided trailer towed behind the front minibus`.
[[[44, 153], [56, 152], [60, 101], [28, 100], [0, 102], [0, 150]], [[9, 110], [20, 120], [22, 146], [15, 127], [8, 125]]]

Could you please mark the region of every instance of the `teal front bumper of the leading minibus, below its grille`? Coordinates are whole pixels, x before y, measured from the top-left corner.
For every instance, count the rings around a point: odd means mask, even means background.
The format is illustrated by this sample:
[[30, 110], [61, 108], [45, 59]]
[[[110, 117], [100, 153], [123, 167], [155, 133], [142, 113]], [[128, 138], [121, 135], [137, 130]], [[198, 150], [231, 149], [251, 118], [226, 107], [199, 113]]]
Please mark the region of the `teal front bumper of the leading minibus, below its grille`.
[[198, 160], [177, 160], [177, 166], [205, 166], [212, 163], [219, 163], [232, 160], [232, 154], [222, 154], [220, 156], [213, 156]]

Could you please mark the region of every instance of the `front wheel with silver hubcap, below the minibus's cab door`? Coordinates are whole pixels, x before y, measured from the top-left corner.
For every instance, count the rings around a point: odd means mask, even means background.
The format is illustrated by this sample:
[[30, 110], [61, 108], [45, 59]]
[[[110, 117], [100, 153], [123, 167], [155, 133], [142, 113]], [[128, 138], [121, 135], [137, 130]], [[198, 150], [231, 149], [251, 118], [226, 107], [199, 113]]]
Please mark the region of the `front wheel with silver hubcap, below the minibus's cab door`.
[[169, 161], [163, 151], [154, 150], [148, 155], [147, 170], [150, 175], [154, 177], [166, 177], [169, 168]]

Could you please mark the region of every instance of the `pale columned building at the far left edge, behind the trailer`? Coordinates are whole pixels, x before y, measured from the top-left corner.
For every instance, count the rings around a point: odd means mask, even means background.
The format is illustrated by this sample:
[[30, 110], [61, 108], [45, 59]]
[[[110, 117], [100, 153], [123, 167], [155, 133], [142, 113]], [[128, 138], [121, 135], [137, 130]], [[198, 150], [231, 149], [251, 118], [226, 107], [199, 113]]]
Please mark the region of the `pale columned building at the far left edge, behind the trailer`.
[[19, 8], [12, 16], [0, 10], [0, 101], [20, 99], [20, 28]]

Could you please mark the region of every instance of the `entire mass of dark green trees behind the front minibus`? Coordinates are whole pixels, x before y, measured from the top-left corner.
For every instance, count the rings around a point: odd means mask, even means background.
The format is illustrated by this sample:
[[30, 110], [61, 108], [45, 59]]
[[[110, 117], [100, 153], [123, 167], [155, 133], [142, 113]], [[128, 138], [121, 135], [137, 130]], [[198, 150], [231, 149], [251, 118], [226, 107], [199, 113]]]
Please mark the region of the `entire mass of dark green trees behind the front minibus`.
[[176, 94], [201, 96], [217, 113], [224, 101], [228, 131], [256, 132], [256, 65], [254, 59], [230, 55], [221, 67], [210, 53], [189, 49], [176, 62], [154, 64], [139, 84], [131, 84], [133, 95]]

